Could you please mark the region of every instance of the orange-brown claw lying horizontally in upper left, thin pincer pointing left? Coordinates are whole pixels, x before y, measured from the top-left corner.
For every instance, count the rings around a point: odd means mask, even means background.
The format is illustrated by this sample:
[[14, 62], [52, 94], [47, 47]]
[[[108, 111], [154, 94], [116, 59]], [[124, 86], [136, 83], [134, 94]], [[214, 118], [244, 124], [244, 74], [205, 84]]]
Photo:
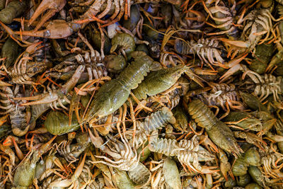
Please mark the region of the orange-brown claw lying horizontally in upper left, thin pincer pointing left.
[[74, 22], [67, 23], [63, 20], [54, 20], [47, 23], [45, 28], [45, 30], [16, 31], [14, 33], [17, 35], [28, 35], [39, 38], [62, 39], [77, 32], [81, 28], [81, 25]]

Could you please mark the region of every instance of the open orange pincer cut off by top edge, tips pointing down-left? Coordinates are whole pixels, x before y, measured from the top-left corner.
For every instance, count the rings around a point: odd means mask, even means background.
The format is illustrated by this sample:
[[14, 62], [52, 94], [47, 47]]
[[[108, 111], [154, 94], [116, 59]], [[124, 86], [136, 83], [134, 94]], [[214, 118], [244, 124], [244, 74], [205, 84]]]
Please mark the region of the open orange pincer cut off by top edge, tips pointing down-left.
[[47, 11], [47, 9], [50, 9], [45, 13], [44, 16], [42, 16], [40, 22], [37, 23], [34, 30], [37, 31], [46, 21], [48, 21], [49, 18], [54, 16], [55, 13], [61, 11], [66, 3], [66, 0], [43, 0], [40, 3], [40, 6], [36, 8], [35, 13], [33, 13], [33, 16], [30, 18], [30, 21], [28, 21], [28, 26], [30, 26], [41, 13], [44, 13]]

